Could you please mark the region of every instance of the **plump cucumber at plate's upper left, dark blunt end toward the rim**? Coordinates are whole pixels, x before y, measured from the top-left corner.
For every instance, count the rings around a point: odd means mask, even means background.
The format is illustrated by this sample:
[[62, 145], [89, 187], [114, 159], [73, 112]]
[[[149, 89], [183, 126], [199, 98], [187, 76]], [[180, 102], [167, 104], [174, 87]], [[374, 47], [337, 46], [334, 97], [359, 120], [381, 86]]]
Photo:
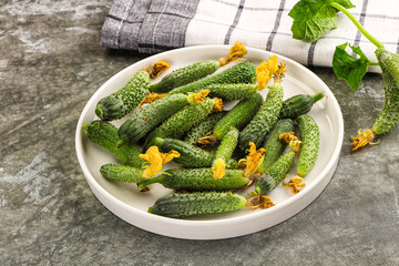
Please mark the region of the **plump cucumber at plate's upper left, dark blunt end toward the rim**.
[[104, 121], [119, 120], [135, 109], [150, 93], [150, 75], [140, 71], [120, 90], [98, 102], [95, 114]]

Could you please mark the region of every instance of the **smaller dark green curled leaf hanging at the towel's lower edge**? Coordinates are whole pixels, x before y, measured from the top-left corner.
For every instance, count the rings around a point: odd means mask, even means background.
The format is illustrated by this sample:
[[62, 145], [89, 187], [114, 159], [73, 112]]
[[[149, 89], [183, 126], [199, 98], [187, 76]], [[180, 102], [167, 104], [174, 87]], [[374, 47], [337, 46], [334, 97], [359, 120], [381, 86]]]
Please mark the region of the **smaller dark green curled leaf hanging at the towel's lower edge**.
[[346, 80], [348, 85], [354, 91], [357, 91], [361, 79], [367, 73], [370, 61], [360, 48], [349, 44], [354, 53], [359, 55], [354, 57], [345, 50], [347, 47], [347, 42], [336, 47], [332, 58], [332, 69], [338, 79]]

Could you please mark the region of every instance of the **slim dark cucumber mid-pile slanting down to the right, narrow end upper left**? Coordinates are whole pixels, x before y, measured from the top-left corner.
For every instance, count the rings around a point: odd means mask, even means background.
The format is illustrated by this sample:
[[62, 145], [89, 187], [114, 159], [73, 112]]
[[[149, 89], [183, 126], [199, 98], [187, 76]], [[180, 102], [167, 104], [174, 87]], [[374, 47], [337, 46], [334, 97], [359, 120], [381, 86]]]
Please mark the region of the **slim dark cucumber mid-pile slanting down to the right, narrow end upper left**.
[[184, 167], [209, 167], [215, 160], [215, 154], [181, 140], [155, 137], [154, 144], [161, 147], [162, 152], [172, 150], [178, 152], [180, 156], [173, 158], [173, 161]]

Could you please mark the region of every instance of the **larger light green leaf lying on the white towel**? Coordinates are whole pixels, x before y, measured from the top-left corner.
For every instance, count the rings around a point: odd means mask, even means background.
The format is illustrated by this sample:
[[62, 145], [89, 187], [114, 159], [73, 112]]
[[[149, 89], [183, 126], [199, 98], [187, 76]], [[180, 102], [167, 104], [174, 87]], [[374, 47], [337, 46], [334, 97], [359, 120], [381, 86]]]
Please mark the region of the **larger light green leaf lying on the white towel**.
[[337, 2], [344, 8], [352, 8], [349, 0], [300, 0], [289, 11], [294, 19], [293, 38], [306, 42], [314, 42], [327, 31], [337, 28], [337, 9], [329, 6]]

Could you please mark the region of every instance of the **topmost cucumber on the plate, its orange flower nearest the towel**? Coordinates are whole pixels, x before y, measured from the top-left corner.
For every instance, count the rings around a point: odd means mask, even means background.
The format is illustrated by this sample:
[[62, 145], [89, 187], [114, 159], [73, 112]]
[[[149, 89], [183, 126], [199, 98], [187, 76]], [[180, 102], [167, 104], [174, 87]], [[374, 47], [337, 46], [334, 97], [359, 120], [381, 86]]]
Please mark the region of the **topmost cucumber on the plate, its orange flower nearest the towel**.
[[214, 73], [219, 68], [218, 61], [206, 60], [176, 69], [165, 75], [158, 83], [150, 86], [151, 92], [168, 92], [174, 88], [192, 83]]

